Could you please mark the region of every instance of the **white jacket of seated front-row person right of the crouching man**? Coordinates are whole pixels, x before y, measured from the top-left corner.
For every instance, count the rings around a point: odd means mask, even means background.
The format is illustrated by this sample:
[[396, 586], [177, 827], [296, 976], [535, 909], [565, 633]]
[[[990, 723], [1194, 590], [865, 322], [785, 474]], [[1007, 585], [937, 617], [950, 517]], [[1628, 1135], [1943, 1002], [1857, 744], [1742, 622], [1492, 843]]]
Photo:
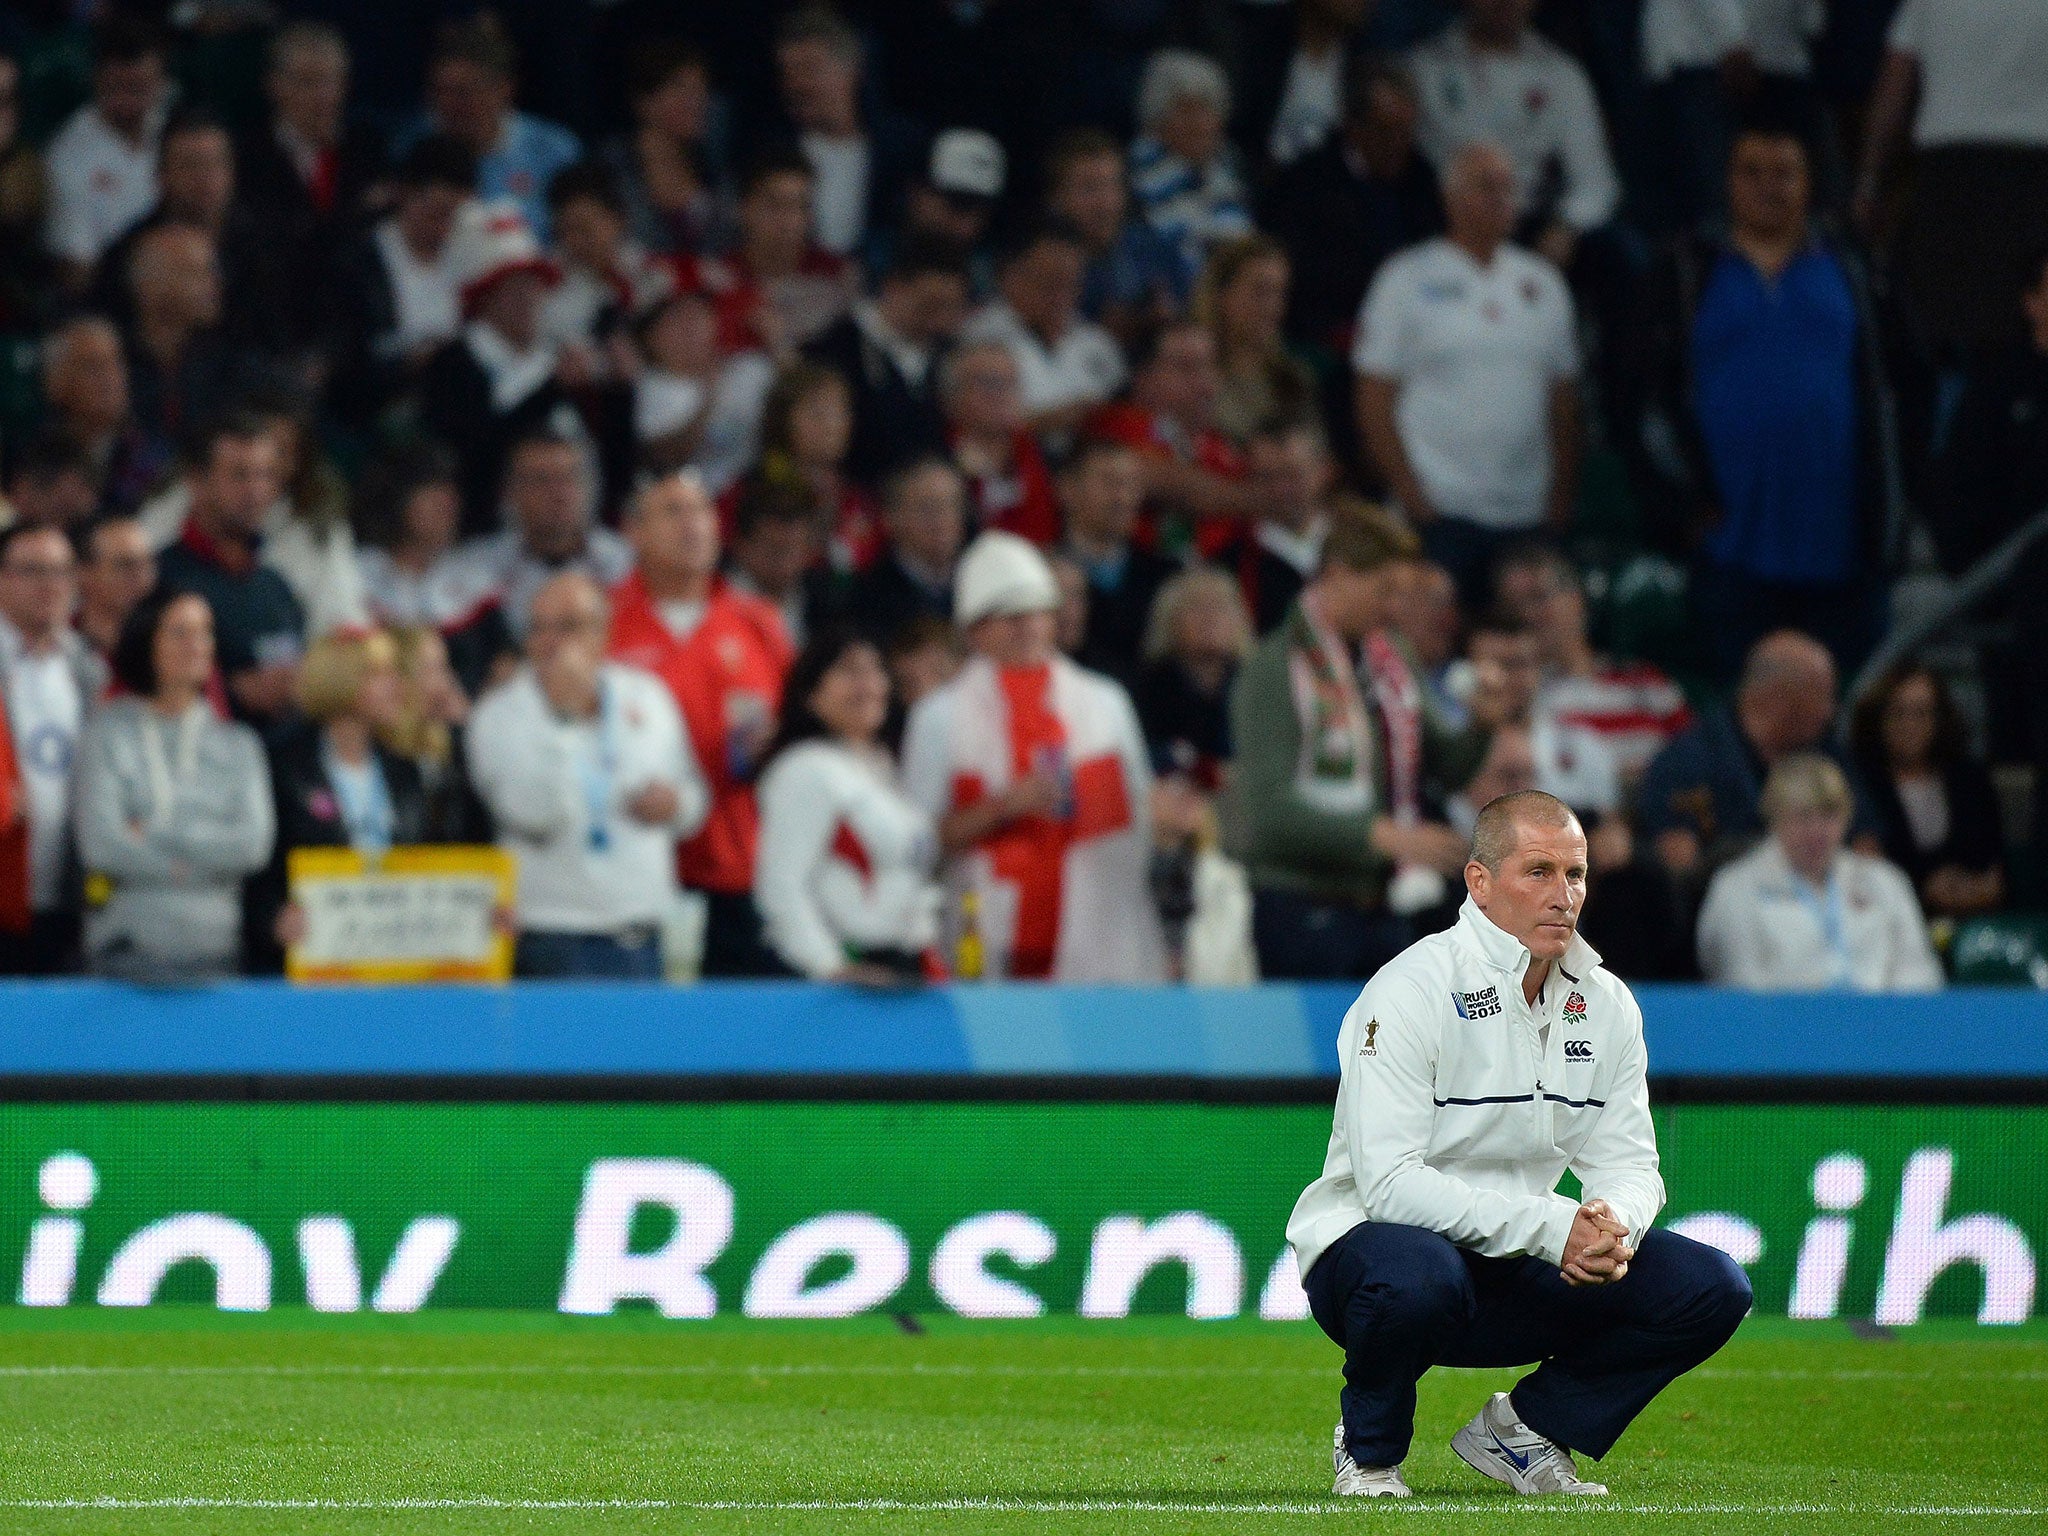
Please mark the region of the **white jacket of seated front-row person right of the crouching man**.
[[1724, 864], [1700, 907], [1700, 969], [1745, 991], [1939, 991], [1913, 885], [1882, 858], [1839, 852], [1829, 891], [1765, 838]]

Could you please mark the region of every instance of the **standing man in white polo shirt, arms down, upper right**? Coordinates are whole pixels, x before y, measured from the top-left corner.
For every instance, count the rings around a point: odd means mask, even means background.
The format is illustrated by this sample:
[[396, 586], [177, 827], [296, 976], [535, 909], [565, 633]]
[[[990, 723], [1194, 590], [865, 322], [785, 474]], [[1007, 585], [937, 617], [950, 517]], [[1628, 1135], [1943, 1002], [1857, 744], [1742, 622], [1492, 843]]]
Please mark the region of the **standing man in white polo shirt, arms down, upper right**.
[[1448, 233], [1386, 262], [1358, 311], [1358, 434], [1432, 559], [1483, 602], [1507, 543], [1571, 520], [1579, 346], [1556, 268], [1507, 244], [1507, 156], [1458, 150], [1444, 207]]

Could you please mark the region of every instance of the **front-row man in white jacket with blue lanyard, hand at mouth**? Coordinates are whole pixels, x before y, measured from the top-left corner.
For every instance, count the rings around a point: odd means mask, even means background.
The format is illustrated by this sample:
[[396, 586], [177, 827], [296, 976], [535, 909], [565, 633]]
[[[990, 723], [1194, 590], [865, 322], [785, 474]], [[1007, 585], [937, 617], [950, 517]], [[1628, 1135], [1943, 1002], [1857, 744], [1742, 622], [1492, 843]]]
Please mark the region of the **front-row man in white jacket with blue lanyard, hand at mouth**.
[[526, 666], [477, 705], [469, 776], [518, 858], [522, 977], [657, 981], [676, 840], [711, 797], [657, 678], [604, 659], [610, 614], [582, 571], [532, 600]]

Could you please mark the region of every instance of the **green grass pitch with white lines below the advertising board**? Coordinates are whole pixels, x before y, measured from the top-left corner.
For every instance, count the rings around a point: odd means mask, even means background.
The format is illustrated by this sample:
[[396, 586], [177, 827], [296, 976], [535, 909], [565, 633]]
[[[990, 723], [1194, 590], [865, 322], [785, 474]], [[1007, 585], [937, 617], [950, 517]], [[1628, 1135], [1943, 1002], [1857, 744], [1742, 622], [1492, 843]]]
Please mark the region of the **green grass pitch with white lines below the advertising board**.
[[[1307, 1325], [0, 1311], [0, 1532], [1589, 1528], [1450, 1454], [1509, 1380], [1432, 1372], [1421, 1497], [1364, 1505]], [[1751, 1321], [1599, 1462], [1602, 1518], [2048, 1530], [2044, 1452], [2044, 1323]]]

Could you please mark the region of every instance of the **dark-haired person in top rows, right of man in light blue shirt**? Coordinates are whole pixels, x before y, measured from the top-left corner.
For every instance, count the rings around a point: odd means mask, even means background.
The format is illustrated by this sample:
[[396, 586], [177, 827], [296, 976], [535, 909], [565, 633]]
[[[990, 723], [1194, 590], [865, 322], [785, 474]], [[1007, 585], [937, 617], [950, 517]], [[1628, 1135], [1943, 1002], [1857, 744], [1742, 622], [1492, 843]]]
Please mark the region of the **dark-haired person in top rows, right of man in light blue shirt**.
[[627, 55], [633, 127], [604, 147], [627, 227], [647, 250], [688, 256], [731, 236], [731, 186], [711, 158], [711, 66], [692, 45], [651, 39]]

